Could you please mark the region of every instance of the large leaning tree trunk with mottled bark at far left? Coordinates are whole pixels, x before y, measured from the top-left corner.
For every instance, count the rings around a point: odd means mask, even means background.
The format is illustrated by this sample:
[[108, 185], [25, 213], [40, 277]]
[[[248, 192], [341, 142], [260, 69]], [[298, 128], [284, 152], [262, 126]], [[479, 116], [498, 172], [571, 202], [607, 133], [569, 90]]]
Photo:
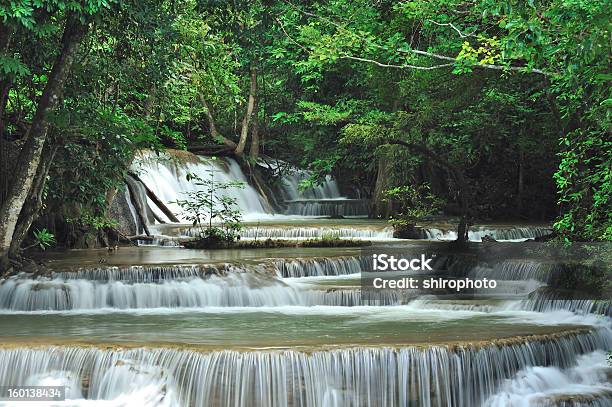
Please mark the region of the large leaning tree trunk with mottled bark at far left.
[[47, 85], [38, 102], [32, 124], [26, 134], [25, 144], [15, 163], [13, 180], [0, 210], [0, 270], [9, 265], [8, 252], [13, 232], [38, 171], [49, 129], [47, 117], [61, 98], [68, 73], [86, 32], [87, 25], [82, 24], [78, 17], [68, 17], [62, 36], [61, 51], [55, 59]]

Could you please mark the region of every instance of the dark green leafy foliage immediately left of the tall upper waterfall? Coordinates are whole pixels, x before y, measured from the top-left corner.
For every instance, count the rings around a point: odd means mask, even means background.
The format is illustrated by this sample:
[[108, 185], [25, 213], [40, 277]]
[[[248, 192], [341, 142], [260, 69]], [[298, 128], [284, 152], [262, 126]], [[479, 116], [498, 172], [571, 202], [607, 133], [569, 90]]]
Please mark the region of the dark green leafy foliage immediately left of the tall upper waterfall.
[[75, 103], [73, 109], [55, 120], [63, 143], [50, 172], [49, 197], [78, 206], [84, 224], [93, 226], [96, 222], [86, 217], [105, 213], [107, 191], [123, 188], [134, 153], [141, 148], [158, 150], [162, 146], [154, 129], [119, 109], [84, 103]]

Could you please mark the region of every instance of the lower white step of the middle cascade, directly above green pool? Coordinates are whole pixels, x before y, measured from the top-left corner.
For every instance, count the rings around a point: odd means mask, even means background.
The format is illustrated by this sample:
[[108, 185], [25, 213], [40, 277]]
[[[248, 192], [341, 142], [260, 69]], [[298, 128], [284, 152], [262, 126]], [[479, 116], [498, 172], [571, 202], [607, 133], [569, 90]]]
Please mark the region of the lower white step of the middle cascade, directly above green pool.
[[[251, 273], [151, 282], [11, 277], [0, 284], [0, 310], [204, 308], [362, 305], [359, 289], [324, 289]], [[151, 279], [151, 280], [150, 280]], [[381, 304], [399, 303], [389, 292]]]

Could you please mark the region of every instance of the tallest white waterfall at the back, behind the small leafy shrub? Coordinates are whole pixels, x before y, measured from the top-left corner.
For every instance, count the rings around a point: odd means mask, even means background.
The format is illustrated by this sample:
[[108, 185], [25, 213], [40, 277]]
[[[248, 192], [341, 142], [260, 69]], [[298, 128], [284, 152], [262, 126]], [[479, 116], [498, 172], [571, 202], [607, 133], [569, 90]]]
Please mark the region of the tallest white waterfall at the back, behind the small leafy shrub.
[[[242, 182], [244, 188], [228, 188], [225, 195], [237, 200], [237, 205], [243, 211], [245, 219], [259, 219], [269, 214], [261, 197], [248, 182], [238, 163], [231, 158], [211, 160], [186, 152], [169, 150], [167, 153], [155, 156], [144, 152], [140, 159], [132, 165], [144, 184], [181, 220], [187, 222], [182, 208], [174, 203], [179, 199], [187, 199], [187, 192], [198, 189], [185, 178], [187, 173], [209, 180], [211, 174], [216, 183]], [[147, 198], [149, 207], [160, 219], [167, 220], [164, 213]]]

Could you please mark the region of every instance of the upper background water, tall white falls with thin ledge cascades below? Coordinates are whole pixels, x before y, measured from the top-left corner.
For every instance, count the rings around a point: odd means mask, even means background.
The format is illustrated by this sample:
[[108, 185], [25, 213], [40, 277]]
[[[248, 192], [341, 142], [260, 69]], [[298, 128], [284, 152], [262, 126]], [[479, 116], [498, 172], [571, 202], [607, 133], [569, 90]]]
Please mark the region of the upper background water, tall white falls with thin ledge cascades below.
[[[274, 182], [271, 189], [281, 208], [275, 208], [269, 197], [258, 191], [249, 177], [243, 172], [240, 165], [231, 158], [211, 160], [187, 152], [168, 150], [167, 153], [155, 155], [143, 152], [132, 165], [132, 170], [138, 174], [140, 182], [136, 185], [137, 197], [146, 208], [145, 221], [150, 224], [159, 224], [154, 215], [170, 222], [163, 211], [146, 195], [145, 186], [152, 191], [168, 207], [181, 222], [187, 222], [186, 215], [177, 200], [187, 199], [188, 193], [201, 189], [193, 182], [187, 180], [187, 174], [194, 174], [204, 180], [212, 180], [218, 185], [224, 183], [242, 183], [242, 188], [229, 188], [224, 194], [236, 199], [243, 217], [247, 221], [258, 221], [264, 224], [249, 225], [242, 232], [244, 238], [315, 238], [322, 236], [337, 236], [341, 238], [361, 239], [391, 239], [393, 230], [381, 222], [344, 223], [329, 225], [325, 221], [316, 221], [313, 217], [364, 217], [369, 213], [370, 203], [367, 199], [359, 197], [349, 198], [343, 196], [336, 181], [327, 176], [323, 182], [314, 187], [302, 189], [300, 185], [307, 180], [311, 173], [295, 168], [288, 163], [275, 159], [262, 160], [259, 165], [270, 172]], [[128, 205], [133, 222], [139, 224], [138, 216], [128, 199]], [[310, 218], [303, 225], [282, 223], [286, 219]], [[272, 224], [265, 224], [270, 222]], [[189, 228], [184, 228], [183, 235], [191, 236]], [[139, 228], [142, 231], [142, 228]], [[551, 232], [545, 226], [474, 226], [469, 231], [469, 239], [481, 241], [484, 236], [491, 236], [500, 241], [522, 241], [530, 238], [547, 235]], [[450, 225], [424, 226], [422, 238], [429, 240], [454, 240], [457, 238], [456, 227]], [[168, 235], [155, 241], [157, 244], [178, 245]]]

